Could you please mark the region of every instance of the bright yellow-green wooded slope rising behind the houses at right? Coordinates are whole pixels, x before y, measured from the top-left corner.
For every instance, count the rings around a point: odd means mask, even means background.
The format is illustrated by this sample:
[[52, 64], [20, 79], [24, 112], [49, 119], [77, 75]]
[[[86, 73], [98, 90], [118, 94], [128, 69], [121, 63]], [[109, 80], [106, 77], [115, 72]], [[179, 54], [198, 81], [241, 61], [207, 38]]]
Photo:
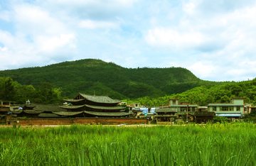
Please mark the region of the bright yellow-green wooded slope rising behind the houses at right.
[[158, 98], [144, 96], [139, 99], [126, 100], [128, 103], [139, 102], [143, 105], [161, 106], [169, 104], [169, 99], [189, 101], [191, 104], [207, 106], [209, 103], [229, 103], [232, 97], [244, 97], [245, 104], [256, 105], [256, 78], [232, 84], [201, 86], [190, 89], [181, 94], [171, 94]]

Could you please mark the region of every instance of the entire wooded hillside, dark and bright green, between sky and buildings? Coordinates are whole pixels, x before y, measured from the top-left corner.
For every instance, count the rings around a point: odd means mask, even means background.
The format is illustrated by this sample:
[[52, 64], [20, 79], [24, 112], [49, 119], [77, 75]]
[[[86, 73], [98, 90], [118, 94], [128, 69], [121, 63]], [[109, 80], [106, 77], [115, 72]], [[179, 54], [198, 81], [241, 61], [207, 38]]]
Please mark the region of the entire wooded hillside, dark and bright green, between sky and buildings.
[[132, 69], [92, 59], [0, 71], [0, 89], [0, 100], [18, 104], [27, 99], [61, 104], [64, 98], [73, 98], [79, 92], [148, 106], [166, 105], [173, 98], [206, 106], [245, 97], [247, 104], [256, 104], [256, 78], [209, 82], [181, 67]]

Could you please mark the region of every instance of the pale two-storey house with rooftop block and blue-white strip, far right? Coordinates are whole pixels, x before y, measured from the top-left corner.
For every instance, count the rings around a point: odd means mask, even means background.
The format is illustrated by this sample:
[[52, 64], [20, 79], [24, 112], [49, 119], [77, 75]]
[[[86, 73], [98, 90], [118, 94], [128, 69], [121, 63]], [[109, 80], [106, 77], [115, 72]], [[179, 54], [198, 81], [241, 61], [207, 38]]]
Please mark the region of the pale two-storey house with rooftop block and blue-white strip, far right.
[[244, 112], [244, 98], [233, 97], [230, 103], [212, 103], [208, 104], [208, 111], [214, 112], [216, 116], [224, 116], [235, 120], [235, 118], [242, 118]]

